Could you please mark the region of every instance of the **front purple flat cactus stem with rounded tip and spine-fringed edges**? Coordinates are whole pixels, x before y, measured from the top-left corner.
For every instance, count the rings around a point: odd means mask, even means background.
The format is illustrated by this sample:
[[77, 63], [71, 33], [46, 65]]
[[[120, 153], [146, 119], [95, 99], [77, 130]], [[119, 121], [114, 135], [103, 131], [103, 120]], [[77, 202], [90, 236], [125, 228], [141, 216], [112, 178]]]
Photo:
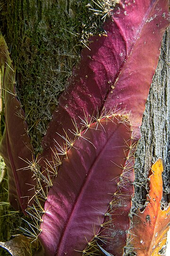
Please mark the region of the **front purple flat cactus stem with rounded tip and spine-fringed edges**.
[[121, 115], [81, 132], [45, 202], [39, 235], [45, 256], [82, 255], [87, 242], [99, 233], [131, 142], [131, 126]]

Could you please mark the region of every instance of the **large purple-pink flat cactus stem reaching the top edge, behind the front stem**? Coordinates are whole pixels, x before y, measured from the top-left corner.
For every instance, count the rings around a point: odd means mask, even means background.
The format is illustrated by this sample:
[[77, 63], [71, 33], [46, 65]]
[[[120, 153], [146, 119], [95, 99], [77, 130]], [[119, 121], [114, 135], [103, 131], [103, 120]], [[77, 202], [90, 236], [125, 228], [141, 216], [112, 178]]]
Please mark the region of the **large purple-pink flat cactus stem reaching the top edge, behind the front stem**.
[[[104, 23], [104, 35], [92, 36], [81, 61], [59, 97], [42, 141], [40, 163], [51, 159], [54, 140], [60, 145], [71, 118], [88, 120], [106, 109], [127, 110], [131, 123], [140, 126], [145, 102], [157, 66], [162, 35], [169, 24], [168, 0], [122, 0]], [[79, 117], [78, 117], [79, 116]], [[54, 131], [57, 133], [54, 134]], [[138, 133], [139, 134], [139, 133]], [[73, 137], [70, 133], [69, 138]]]

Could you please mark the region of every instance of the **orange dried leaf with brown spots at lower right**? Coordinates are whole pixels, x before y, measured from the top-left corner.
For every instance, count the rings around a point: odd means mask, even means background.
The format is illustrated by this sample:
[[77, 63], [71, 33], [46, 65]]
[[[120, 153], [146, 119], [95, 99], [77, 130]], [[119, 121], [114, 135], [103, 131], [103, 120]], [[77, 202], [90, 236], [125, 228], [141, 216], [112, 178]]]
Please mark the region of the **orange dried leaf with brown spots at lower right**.
[[163, 163], [158, 159], [152, 166], [150, 192], [143, 212], [138, 210], [133, 217], [130, 244], [137, 256], [159, 256], [159, 251], [166, 244], [170, 224], [170, 205], [161, 210]]

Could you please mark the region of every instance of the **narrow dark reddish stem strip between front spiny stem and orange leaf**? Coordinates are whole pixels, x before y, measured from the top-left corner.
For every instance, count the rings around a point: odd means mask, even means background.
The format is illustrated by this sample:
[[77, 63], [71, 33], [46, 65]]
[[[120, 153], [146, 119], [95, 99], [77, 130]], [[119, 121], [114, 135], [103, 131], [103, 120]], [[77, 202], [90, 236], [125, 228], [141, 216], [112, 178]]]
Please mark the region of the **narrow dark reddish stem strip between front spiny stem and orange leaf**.
[[[133, 148], [134, 153], [135, 150], [136, 143]], [[132, 197], [134, 194], [134, 162], [133, 154], [127, 160], [125, 169], [117, 180], [117, 191], [113, 195], [112, 204], [109, 206], [108, 213], [105, 215], [103, 221], [103, 227], [100, 230], [100, 234], [105, 241], [102, 247], [116, 256], [123, 255], [127, 241], [127, 230], [129, 229], [130, 223], [128, 214], [132, 206]]]

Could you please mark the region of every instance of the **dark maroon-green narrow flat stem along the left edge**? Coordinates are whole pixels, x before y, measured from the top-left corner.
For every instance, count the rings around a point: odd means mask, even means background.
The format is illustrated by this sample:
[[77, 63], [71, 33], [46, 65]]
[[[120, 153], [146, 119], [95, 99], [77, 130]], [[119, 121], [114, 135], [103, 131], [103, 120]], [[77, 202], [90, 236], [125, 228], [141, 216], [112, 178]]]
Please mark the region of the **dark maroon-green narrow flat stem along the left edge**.
[[33, 174], [29, 168], [26, 168], [28, 163], [24, 161], [32, 161], [33, 149], [26, 133], [25, 115], [16, 95], [15, 72], [2, 36], [0, 36], [0, 66], [5, 108], [5, 130], [0, 141], [0, 154], [8, 168], [9, 202], [16, 210], [24, 212], [29, 198], [34, 195]]

